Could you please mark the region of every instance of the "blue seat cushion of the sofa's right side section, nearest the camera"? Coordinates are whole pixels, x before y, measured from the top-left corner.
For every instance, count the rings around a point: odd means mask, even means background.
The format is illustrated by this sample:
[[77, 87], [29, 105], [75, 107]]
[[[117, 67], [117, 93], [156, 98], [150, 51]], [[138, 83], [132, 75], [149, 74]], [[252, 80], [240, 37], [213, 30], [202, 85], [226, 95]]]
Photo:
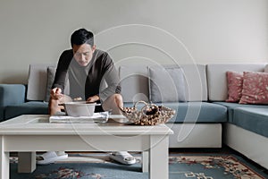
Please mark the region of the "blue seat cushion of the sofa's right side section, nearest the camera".
[[235, 108], [232, 124], [236, 124], [243, 129], [268, 137], [268, 108]]

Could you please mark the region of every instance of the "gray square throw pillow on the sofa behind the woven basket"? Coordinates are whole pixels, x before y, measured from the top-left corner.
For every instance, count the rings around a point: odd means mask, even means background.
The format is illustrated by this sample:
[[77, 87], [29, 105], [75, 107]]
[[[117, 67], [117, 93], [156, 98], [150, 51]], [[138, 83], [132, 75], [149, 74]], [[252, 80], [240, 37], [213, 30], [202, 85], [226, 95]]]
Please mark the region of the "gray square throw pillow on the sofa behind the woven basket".
[[185, 80], [180, 67], [149, 66], [148, 77], [152, 102], [186, 101]]

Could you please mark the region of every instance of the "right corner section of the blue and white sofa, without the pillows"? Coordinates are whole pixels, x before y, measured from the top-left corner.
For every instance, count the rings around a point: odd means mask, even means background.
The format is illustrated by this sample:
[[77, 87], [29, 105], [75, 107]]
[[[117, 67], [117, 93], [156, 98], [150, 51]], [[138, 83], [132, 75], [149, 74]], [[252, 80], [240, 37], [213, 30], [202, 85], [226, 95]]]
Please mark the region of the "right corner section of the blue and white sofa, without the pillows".
[[[268, 168], [268, 105], [227, 103], [226, 72], [268, 72], [265, 64], [207, 64], [208, 97], [227, 107], [223, 124], [223, 143]], [[219, 82], [221, 81], [221, 82]]]

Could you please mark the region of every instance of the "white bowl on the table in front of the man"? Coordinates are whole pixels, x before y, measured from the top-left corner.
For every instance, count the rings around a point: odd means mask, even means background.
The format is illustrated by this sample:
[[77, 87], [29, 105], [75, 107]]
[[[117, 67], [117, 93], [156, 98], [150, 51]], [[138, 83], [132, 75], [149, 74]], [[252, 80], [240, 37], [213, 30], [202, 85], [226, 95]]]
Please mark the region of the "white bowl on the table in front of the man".
[[94, 115], [96, 103], [86, 103], [86, 101], [64, 103], [67, 115], [71, 116], [92, 116]]

